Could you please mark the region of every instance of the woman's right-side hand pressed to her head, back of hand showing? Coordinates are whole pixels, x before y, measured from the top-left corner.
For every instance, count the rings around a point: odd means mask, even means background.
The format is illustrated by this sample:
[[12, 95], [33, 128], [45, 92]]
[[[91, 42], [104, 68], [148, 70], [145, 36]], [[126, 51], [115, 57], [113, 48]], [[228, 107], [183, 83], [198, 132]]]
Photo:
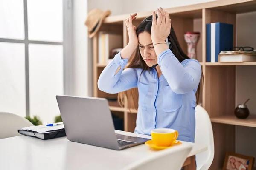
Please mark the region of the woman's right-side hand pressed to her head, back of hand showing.
[[163, 11], [163, 8], [159, 8], [157, 9], [157, 19], [155, 11], [153, 11], [152, 16], [151, 39], [153, 45], [166, 42], [166, 37], [169, 36], [171, 31], [171, 19], [169, 14]]

